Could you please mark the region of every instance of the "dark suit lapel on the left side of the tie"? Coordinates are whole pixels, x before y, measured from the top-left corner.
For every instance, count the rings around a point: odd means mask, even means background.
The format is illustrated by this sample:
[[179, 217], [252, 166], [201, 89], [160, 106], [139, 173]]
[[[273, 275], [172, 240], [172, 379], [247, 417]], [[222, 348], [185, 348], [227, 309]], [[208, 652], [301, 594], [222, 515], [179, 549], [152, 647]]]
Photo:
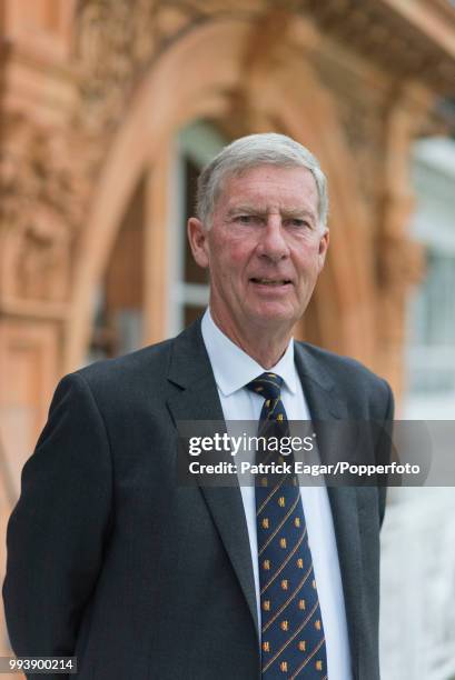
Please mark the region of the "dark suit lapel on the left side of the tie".
[[[200, 322], [194, 323], [175, 339], [168, 379], [180, 388], [168, 399], [168, 408], [175, 423], [216, 421], [219, 430], [219, 423], [224, 423], [224, 414], [204, 344]], [[258, 631], [251, 551], [239, 486], [238, 483], [234, 487], [201, 486], [200, 491], [240, 582]]]

